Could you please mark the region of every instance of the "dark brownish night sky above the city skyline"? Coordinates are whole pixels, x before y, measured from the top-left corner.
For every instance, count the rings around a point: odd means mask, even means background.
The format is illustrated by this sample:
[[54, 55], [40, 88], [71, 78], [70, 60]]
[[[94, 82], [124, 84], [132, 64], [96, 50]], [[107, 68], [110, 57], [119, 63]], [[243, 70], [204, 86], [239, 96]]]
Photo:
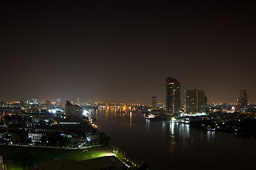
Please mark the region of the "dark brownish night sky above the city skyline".
[[252, 1], [0, 6], [0, 98], [164, 102], [174, 77], [182, 91], [205, 90], [209, 103], [235, 102], [242, 88], [256, 99]]

